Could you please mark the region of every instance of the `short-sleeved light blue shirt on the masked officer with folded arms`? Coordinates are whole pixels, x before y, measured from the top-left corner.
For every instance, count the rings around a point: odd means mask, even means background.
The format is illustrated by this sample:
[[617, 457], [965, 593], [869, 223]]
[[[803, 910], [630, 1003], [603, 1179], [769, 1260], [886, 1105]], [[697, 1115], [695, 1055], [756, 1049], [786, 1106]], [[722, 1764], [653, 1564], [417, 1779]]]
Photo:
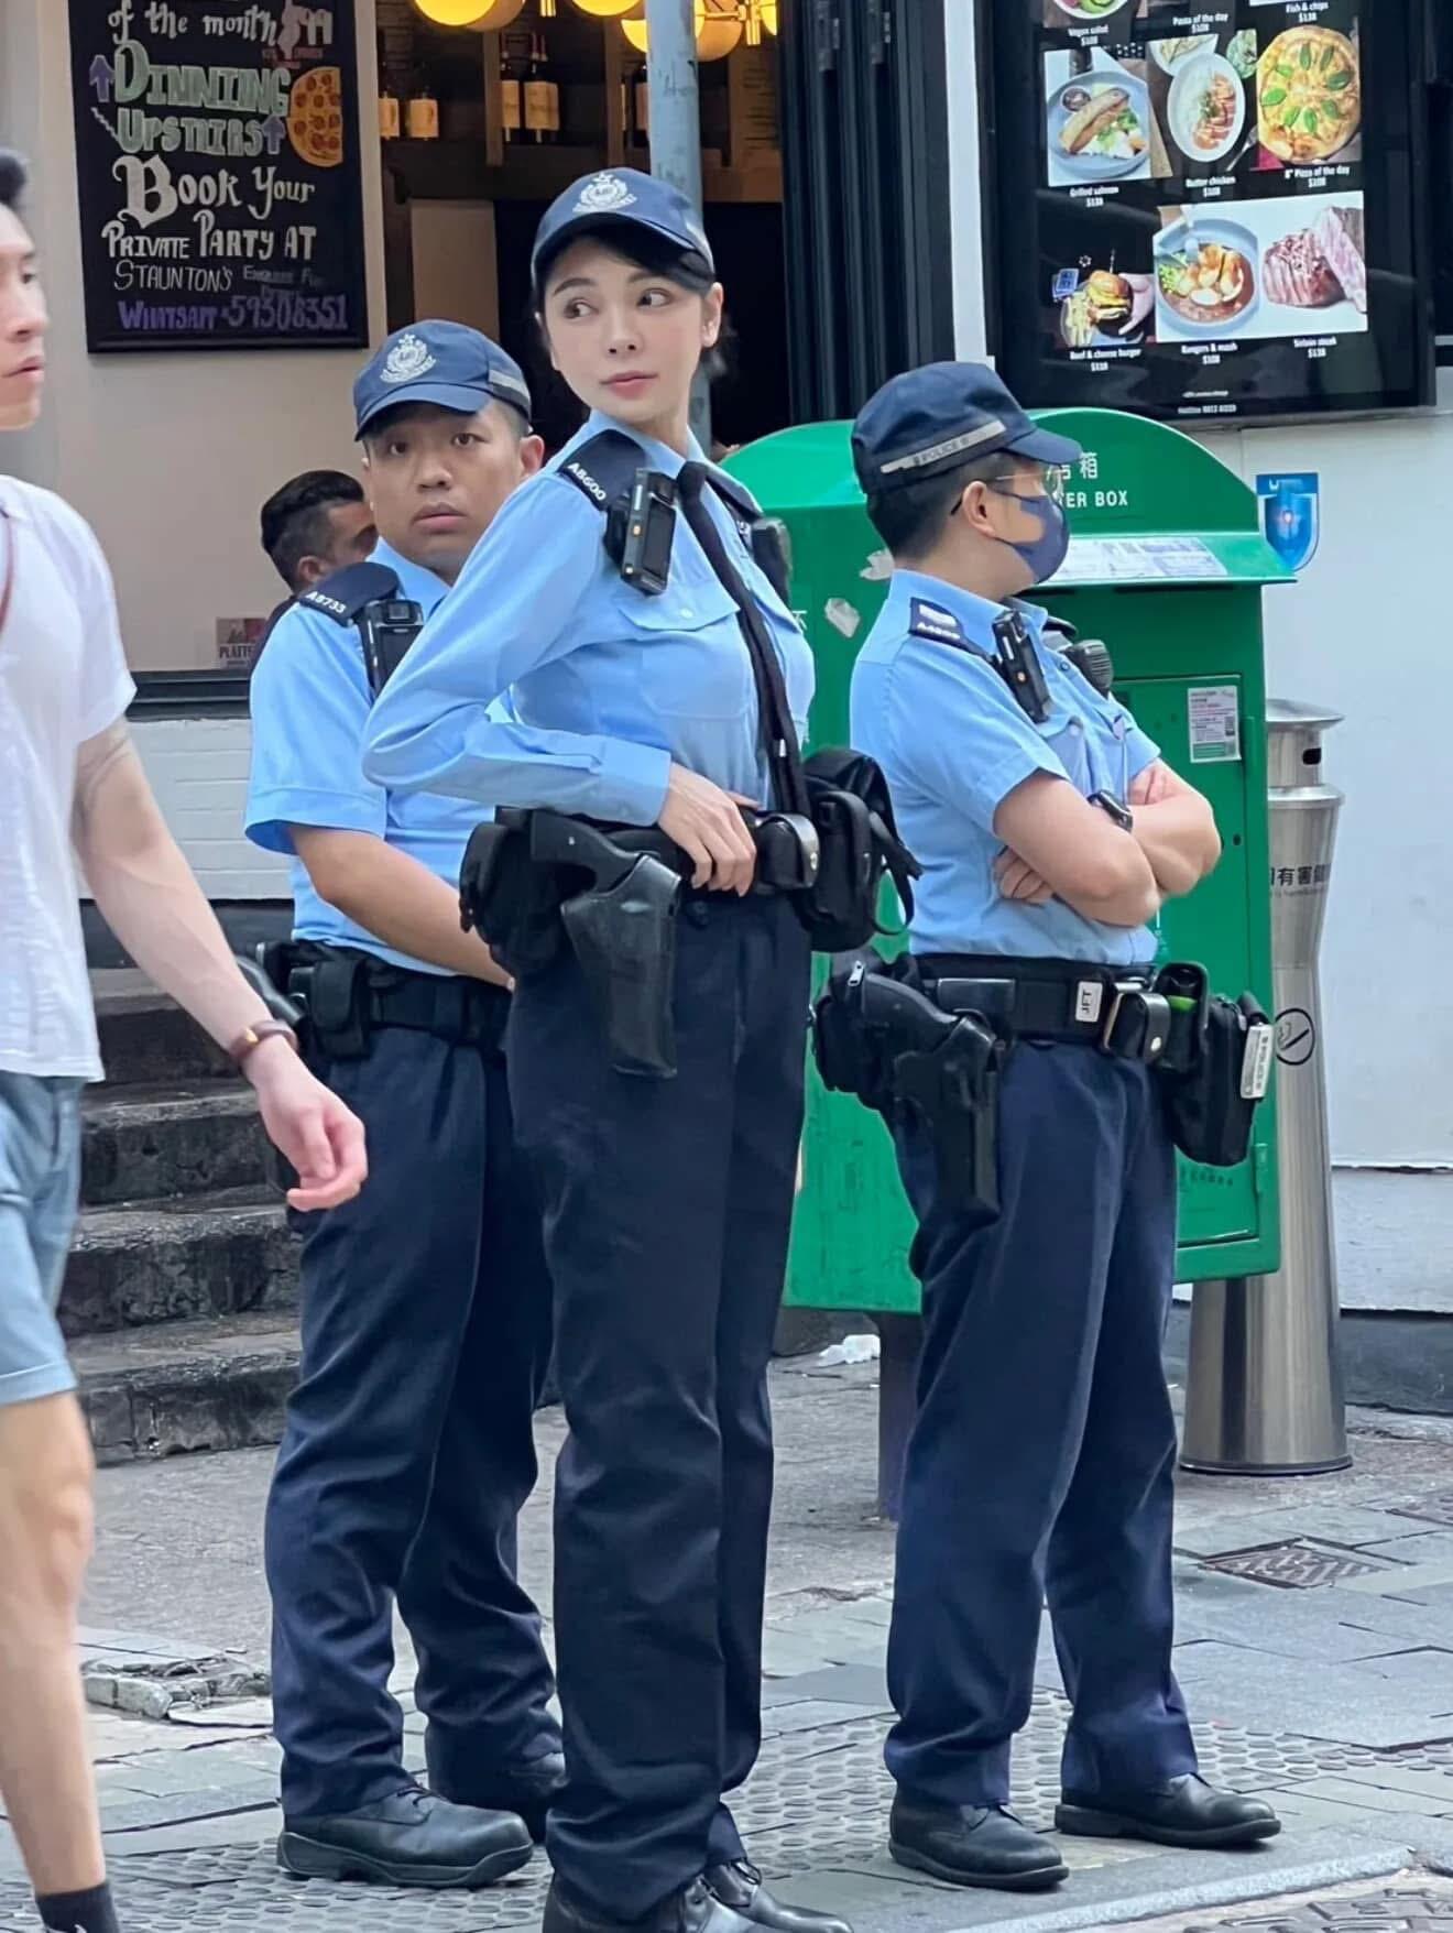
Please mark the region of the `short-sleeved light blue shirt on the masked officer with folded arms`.
[[[1053, 700], [1036, 725], [982, 651], [993, 653], [1003, 605], [941, 578], [898, 570], [852, 673], [852, 742], [887, 773], [898, 831], [924, 864], [914, 887], [914, 953], [1007, 953], [1030, 959], [1150, 961], [1155, 936], [1105, 926], [1053, 899], [1028, 907], [1003, 899], [993, 862], [999, 806], [1038, 771], [1067, 779], [1086, 798], [1126, 800], [1130, 781], [1159, 748], [1113, 698], [1101, 698], [1057, 651], [1041, 646], [1045, 613], [1018, 605]], [[916, 636], [960, 632], [970, 649]]]

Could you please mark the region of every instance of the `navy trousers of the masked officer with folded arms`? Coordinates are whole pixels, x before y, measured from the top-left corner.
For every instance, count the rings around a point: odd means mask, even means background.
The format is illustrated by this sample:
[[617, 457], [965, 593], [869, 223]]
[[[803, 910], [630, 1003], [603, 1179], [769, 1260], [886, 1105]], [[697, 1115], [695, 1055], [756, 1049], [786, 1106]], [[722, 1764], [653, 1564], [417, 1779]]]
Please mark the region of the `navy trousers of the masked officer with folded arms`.
[[937, 1200], [898, 1131], [924, 1284], [889, 1693], [898, 1786], [1003, 1805], [1047, 1601], [1074, 1705], [1076, 1798], [1196, 1769], [1171, 1674], [1175, 1423], [1161, 1334], [1175, 1166], [1154, 1077], [1094, 1048], [1020, 1040], [1003, 1081], [1003, 1214]]

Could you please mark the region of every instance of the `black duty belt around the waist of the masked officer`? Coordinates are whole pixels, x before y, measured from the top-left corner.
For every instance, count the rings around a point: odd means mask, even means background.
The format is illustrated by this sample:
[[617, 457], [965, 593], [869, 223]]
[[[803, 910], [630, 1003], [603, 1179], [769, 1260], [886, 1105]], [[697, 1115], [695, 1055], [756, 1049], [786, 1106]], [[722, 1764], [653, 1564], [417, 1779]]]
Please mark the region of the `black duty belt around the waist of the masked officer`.
[[1150, 966], [920, 953], [914, 970], [945, 1013], [978, 1013], [1005, 1038], [1092, 1046], [1148, 1065], [1171, 1042], [1175, 1015]]

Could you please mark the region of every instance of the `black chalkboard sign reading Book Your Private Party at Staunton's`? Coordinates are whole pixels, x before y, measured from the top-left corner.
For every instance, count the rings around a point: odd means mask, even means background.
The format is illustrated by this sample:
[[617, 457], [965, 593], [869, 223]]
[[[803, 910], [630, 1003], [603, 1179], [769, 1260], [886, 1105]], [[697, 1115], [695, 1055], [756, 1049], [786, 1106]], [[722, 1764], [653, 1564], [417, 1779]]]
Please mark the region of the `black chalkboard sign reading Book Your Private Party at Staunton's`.
[[70, 0], [91, 350], [363, 348], [354, 0]]

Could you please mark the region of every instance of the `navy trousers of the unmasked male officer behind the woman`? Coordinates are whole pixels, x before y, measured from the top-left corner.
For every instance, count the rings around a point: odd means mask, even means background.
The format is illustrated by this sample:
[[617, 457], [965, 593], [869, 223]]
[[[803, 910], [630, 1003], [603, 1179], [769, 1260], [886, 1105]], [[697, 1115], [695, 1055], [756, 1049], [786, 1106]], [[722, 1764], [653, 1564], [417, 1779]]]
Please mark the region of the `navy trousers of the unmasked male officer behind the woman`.
[[493, 1786], [558, 1749], [514, 1575], [551, 1299], [502, 1057], [385, 1026], [363, 1059], [313, 1065], [373, 1160], [357, 1200], [303, 1224], [301, 1380], [267, 1506], [288, 1819], [406, 1784], [394, 1601], [431, 1765]]

